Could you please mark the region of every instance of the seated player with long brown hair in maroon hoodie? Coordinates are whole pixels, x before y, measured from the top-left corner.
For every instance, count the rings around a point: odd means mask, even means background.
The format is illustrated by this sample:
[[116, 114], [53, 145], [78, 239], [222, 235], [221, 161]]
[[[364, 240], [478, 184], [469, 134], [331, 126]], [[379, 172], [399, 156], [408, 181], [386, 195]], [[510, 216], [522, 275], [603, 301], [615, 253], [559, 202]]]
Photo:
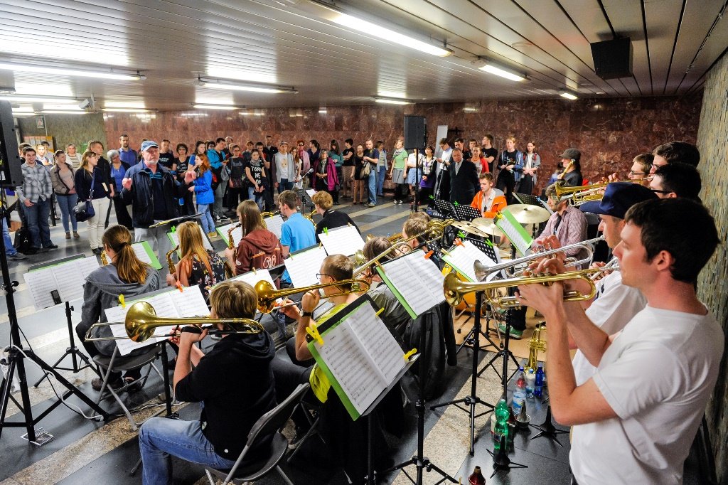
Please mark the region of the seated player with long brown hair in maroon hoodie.
[[282, 264], [282, 248], [278, 237], [266, 229], [256, 202], [244, 200], [237, 206], [242, 239], [237, 248], [227, 248], [225, 256], [235, 275], [255, 269], [271, 269]]

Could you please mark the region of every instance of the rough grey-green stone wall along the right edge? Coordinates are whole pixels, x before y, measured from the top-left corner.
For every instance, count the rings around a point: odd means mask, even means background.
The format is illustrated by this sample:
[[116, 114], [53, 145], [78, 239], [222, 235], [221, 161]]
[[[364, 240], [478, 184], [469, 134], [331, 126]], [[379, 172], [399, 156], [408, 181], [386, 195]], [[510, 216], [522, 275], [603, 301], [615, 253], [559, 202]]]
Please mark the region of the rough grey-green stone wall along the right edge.
[[[728, 335], [728, 162], [725, 141], [728, 140], [728, 118], [726, 117], [726, 93], [728, 92], [728, 56], [711, 69], [705, 81], [703, 110], [700, 113], [700, 130], [697, 133], [697, 146], [700, 149], [700, 173], [703, 174], [703, 191], [700, 198], [711, 211], [718, 226], [722, 244], [700, 273], [698, 296], [708, 305], [716, 320], [721, 323], [724, 334]], [[710, 174], [709, 183], [705, 174]], [[728, 347], [728, 346], [727, 346]], [[708, 429], [716, 460], [719, 483], [728, 483], [728, 361], [723, 355], [721, 371], [718, 376], [713, 397], [705, 412]], [[722, 477], [722, 478], [721, 478]], [[722, 480], [722, 481], [721, 481]]]

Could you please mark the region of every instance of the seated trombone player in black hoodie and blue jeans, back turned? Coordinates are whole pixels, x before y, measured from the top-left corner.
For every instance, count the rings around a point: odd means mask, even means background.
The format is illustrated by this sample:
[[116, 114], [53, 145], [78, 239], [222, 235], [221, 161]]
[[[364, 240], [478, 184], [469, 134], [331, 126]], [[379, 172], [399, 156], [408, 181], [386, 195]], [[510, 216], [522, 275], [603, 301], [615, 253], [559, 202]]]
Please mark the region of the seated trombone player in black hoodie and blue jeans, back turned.
[[[210, 294], [210, 318], [253, 318], [257, 300], [248, 283], [225, 281]], [[237, 323], [215, 327], [242, 329]], [[145, 485], [173, 483], [172, 455], [221, 470], [232, 468], [250, 428], [276, 405], [271, 368], [275, 347], [268, 332], [223, 335], [205, 354], [195, 344], [206, 335], [207, 330], [183, 331], [170, 338], [179, 346], [175, 397], [201, 403], [202, 412], [196, 421], [153, 417], [142, 425], [139, 449]], [[263, 440], [250, 449], [245, 462], [265, 457], [269, 443]]]

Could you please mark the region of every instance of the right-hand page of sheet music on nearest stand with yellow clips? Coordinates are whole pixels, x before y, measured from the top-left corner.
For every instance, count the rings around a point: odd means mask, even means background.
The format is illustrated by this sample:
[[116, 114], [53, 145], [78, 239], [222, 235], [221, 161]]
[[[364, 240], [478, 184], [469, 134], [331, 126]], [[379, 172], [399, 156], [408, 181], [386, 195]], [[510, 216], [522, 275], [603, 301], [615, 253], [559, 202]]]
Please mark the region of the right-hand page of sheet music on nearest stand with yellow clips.
[[376, 316], [371, 304], [363, 304], [346, 319], [345, 323], [352, 328], [371, 363], [381, 372], [384, 385], [388, 385], [406, 364], [400, 344]]

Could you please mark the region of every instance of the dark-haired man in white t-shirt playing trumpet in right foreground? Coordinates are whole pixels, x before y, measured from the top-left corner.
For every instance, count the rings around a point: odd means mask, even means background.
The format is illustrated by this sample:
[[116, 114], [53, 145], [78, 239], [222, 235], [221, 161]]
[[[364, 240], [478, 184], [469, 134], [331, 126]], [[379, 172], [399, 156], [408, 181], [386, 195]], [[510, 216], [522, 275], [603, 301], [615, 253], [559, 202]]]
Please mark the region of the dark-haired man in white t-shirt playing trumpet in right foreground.
[[[563, 283], [521, 285], [520, 300], [548, 322], [553, 417], [574, 425], [572, 483], [681, 483], [724, 350], [719, 323], [695, 294], [718, 232], [702, 205], [667, 199], [630, 208], [620, 237], [614, 255], [622, 283], [647, 300], [620, 334], [579, 318], [579, 304], [563, 301]], [[569, 335], [597, 367], [582, 385], [569, 362]]]

